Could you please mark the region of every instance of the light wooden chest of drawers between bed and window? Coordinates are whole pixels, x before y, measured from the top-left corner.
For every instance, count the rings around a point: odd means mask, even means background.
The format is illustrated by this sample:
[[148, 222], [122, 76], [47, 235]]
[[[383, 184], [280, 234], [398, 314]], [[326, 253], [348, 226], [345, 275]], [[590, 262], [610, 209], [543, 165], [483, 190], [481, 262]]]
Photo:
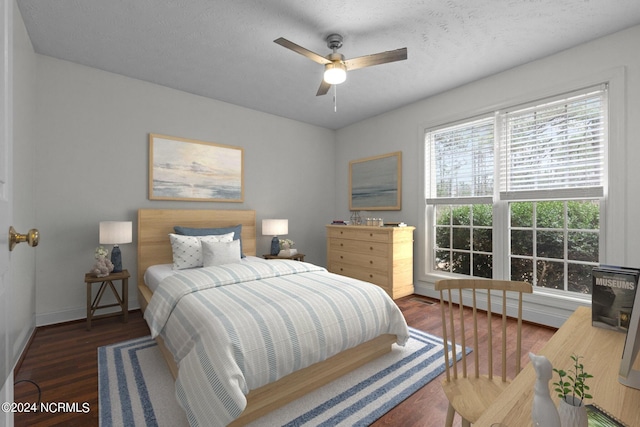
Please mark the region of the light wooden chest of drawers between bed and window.
[[327, 269], [374, 283], [393, 299], [413, 293], [415, 227], [327, 225]]

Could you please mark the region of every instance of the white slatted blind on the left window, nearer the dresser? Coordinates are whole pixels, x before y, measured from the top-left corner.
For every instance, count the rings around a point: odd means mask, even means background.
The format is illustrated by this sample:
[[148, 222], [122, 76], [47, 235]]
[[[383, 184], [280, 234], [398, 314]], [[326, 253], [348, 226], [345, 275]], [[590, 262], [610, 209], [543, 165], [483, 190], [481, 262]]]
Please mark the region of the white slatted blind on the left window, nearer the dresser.
[[490, 116], [425, 133], [427, 203], [492, 202], [494, 126]]

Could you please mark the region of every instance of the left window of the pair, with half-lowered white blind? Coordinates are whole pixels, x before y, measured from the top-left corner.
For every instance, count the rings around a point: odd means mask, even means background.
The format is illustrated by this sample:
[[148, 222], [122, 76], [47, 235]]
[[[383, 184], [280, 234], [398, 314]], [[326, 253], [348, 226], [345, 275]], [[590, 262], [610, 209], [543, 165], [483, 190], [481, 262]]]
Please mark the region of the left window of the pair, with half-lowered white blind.
[[494, 127], [485, 117], [427, 133], [435, 270], [492, 277]]

